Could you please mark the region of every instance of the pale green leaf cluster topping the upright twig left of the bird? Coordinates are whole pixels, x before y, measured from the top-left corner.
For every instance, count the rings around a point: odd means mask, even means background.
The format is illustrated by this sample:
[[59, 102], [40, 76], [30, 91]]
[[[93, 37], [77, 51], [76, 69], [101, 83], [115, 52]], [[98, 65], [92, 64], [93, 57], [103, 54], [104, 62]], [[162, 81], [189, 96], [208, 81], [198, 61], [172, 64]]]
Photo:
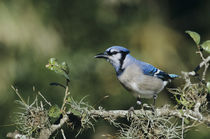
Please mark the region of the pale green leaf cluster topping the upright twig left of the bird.
[[56, 58], [50, 58], [48, 64], [45, 66], [49, 70], [54, 71], [55, 73], [63, 75], [66, 79], [69, 79], [69, 67], [66, 62], [59, 64]]

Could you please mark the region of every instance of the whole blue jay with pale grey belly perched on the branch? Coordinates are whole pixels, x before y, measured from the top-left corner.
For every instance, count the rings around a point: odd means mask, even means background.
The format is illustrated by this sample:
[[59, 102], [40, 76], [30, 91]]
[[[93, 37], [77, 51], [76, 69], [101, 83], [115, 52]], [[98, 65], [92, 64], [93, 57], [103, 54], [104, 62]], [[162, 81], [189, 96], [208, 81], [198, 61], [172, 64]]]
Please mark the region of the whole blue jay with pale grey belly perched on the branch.
[[175, 74], [167, 74], [154, 66], [132, 57], [130, 51], [122, 46], [112, 46], [104, 53], [97, 54], [95, 58], [106, 59], [115, 68], [120, 83], [137, 97], [153, 98], [171, 81], [178, 77]]

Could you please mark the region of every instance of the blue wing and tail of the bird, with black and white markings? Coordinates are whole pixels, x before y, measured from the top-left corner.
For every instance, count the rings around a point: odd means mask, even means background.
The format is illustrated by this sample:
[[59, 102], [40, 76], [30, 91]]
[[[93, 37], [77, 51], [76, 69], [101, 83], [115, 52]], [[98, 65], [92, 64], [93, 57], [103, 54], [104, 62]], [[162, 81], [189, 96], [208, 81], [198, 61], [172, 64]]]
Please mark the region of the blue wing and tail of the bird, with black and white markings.
[[164, 81], [178, 77], [178, 75], [167, 74], [166, 72], [163, 72], [154, 66], [142, 61], [140, 61], [140, 66], [145, 75], [156, 76]]

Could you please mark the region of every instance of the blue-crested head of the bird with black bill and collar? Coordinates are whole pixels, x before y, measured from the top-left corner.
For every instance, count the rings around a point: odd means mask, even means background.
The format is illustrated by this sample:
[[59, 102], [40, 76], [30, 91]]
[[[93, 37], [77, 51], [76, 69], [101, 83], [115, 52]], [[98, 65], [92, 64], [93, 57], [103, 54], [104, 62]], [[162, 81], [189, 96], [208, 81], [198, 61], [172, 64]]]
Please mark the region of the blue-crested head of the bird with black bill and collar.
[[106, 59], [115, 67], [115, 70], [118, 72], [119, 70], [122, 70], [123, 62], [129, 53], [130, 51], [127, 48], [122, 46], [112, 46], [106, 49], [104, 53], [97, 54], [95, 58]]

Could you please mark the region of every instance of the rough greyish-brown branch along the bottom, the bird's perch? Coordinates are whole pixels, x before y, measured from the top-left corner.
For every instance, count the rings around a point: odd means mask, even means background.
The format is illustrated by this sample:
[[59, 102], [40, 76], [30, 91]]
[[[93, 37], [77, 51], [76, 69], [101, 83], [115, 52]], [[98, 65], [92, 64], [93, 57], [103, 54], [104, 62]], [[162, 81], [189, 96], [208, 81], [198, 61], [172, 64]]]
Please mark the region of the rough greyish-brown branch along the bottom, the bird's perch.
[[[155, 109], [155, 115], [158, 116], [174, 116], [177, 118], [188, 118], [191, 119], [192, 121], [196, 121], [199, 123], [203, 123], [206, 124], [208, 126], [210, 126], [210, 115], [204, 116], [202, 115], [198, 109], [199, 109], [199, 104], [196, 104], [195, 109], [194, 110], [177, 110], [177, 109], [170, 109], [168, 105], [165, 105], [162, 108], [157, 108]], [[102, 119], [107, 119], [107, 118], [113, 118], [113, 119], [117, 119], [117, 118], [128, 118], [128, 116], [130, 116], [130, 118], [136, 118], [138, 117], [138, 115], [144, 115], [146, 114], [154, 114], [154, 112], [152, 110], [144, 110], [144, 109], [140, 109], [140, 110], [134, 110], [133, 111], [134, 114], [130, 115], [130, 111], [129, 110], [90, 110], [89, 111], [89, 115], [93, 118], [102, 118]], [[71, 114], [70, 112], [67, 112], [66, 115], [63, 115], [63, 118], [60, 120], [60, 123], [55, 125], [51, 125], [50, 128], [46, 128], [46, 129], [42, 129], [40, 132], [40, 136], [38, 139], [48, 139], [55, 131], [59, 130], [66, 122], [68, 122], [70, 119], [68, 117], [68, 115]], [[18, 136], [20, 137], [21, 134], [19, 134], [17, 131], [15, 131], [14, 133], [8, 133], [7, 137], [10, 138], [14, 138]], [[25, 135], [22, 135], [25, 136]], [[30, 137], [28, 137], [30, 138]]]

